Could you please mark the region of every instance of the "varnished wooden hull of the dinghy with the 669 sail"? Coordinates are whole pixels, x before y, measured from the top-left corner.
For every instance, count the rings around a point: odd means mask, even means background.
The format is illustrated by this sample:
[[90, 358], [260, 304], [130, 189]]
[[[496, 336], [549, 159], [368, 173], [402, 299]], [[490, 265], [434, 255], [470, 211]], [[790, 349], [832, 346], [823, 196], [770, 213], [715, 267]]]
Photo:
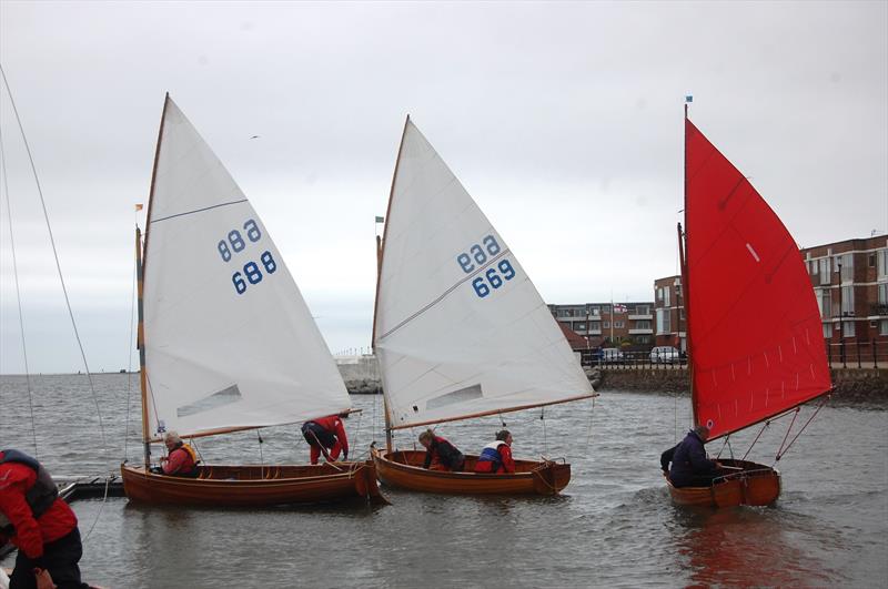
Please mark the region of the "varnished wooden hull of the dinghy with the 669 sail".
[[557, 495], [571, 480], [571, 465], [515, 460], [515, 474], [473, 473], [477, 456], [466, 456], [464, 473], [422, 468], [425, 451], [372, 448], [376, 474], [385, 485], [446, 495]]

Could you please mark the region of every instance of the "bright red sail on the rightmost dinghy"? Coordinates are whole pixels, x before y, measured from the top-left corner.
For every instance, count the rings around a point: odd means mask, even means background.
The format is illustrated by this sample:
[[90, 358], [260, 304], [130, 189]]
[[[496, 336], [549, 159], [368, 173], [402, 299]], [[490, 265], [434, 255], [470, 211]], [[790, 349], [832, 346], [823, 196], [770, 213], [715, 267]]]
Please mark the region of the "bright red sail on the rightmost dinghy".
[[820, 313], [793, 236], [687, 119], [685, 158], [694, 416], [717, 437], [833, 385]]

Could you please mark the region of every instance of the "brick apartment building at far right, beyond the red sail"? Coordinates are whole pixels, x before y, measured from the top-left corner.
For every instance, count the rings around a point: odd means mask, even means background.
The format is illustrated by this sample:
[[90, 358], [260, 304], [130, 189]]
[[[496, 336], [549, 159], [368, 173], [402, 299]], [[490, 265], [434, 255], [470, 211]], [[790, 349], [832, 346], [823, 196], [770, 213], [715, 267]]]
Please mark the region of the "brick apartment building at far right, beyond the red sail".
[[801, 250], [828, 344], [888, 343], [888, 234]]

